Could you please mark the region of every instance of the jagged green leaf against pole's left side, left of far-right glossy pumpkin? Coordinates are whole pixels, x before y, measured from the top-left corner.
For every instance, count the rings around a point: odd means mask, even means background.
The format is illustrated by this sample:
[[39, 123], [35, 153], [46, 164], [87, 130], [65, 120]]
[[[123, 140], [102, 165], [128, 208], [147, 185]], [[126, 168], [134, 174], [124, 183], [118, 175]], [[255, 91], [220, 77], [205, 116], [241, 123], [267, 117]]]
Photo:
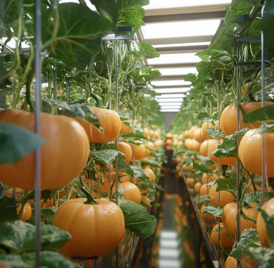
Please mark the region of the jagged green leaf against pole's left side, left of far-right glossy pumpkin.
[[237, 137], [229, 135], [223, 138], [223, 142], [218, 145], [218, 149], [212, 154], [217, 158], [221, 157], [237, 157]]

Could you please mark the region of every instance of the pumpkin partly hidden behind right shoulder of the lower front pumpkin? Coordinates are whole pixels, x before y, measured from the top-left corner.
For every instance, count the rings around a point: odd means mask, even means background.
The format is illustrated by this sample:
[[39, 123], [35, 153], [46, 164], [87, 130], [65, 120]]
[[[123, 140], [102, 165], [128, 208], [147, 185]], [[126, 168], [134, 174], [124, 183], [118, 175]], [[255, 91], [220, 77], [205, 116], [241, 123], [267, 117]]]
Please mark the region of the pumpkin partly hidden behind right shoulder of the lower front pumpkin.
[[[132, 184], [130, 182], [120, 183], [118, 184], [118, 189], [125, 190], [125, 193], [123, 195], [125, 199], [133, 201], [137, 204], [141, 203], [141, 192], [135, 184]], [[104, 184], [101, 187], [102, 192], [107, 192], [109, 190], [110, 190], [110, 184]], [[113, 189], [112, 189], [112, 193], [114, 192], [115, 192], [115, 185], [113, 186]]]

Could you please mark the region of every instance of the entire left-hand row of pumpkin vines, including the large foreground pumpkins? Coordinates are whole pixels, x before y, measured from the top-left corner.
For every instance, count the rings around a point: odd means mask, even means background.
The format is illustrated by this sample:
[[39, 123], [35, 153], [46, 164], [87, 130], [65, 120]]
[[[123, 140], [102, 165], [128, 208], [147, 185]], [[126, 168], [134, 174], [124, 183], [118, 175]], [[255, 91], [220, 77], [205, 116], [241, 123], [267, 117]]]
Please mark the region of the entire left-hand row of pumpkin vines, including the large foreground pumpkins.
[[[144, 25], [149, 1], [90, 2], [97, 12], [85, 1], [41, 0], [40, 135], [34, 134], [33, 113], [39, 101], [33, 81], [34, 0], [7, 0], [1, 13], [0, 93], [7, 109], [0, 113], [0, 265], [6, 267], [35, 267], [38, 149], [41, 266], [92, 267], [92, 259], [101, 256], [111, 262], [107, 254], [121, 241], [123, 259], [129, 237], [146, 239], [157, 226], [147, 209], [158, 205], [156, 193], [162, 190], [164, 120], [146, 84], [160, 72], [136, 66], [159, 54], [134, 40], [101, 40], [119, 34], [118, 26], [133, 27], [123, 34], [135, 33]], [[9, 47], [11, 39], [15, 48]]]

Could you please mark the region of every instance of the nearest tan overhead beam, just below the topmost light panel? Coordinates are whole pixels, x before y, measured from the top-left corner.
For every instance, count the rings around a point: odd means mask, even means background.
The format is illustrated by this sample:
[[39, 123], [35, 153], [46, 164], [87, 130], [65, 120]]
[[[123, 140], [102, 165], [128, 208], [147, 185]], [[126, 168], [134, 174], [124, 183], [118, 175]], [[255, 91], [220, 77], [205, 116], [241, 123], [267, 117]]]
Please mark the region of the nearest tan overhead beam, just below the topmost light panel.
[[185, 21], [185, 20], [203, 20], [203, 19], [223, 19], [226, 16], [226, 11], [215, 12], [201, 12], [190, 14], [173, 14], [173, 15], [157, 15], [145, 16], [145, 23], [162, 23], [171, 21]]

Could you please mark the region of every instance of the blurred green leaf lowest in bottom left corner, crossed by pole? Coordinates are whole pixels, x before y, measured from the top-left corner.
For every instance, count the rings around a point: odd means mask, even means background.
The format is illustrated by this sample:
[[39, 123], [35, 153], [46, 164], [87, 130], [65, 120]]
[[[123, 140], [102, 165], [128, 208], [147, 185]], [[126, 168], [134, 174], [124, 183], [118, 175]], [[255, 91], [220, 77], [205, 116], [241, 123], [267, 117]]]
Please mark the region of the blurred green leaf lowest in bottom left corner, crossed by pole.
[[[79, 268], [78, 264], [72, 263], [67, 258], [52, 251], [41, 251], [41, 268]], [[0, 263], [12, 268], [35, 268], [35, 253], [24, 255], [1, 254]]]

